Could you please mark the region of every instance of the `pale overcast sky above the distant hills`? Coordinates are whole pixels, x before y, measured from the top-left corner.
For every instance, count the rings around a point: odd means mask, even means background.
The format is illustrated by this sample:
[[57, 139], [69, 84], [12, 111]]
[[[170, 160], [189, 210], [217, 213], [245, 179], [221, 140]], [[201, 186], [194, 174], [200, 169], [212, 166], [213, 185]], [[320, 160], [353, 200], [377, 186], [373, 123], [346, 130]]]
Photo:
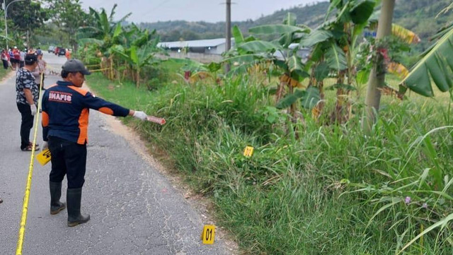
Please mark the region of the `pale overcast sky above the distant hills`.
[[[225, 0], [81, 0], [86, 10], [92, 8], [110, 13], [116, 3], [115, 18], [132, 12], [127, 20], [134, 23], [167, 20], [217, 22], [225, 20]], [[290, 8], [322, 0], [231, 0], [231, 20], [256, 20], [282, 8]]]

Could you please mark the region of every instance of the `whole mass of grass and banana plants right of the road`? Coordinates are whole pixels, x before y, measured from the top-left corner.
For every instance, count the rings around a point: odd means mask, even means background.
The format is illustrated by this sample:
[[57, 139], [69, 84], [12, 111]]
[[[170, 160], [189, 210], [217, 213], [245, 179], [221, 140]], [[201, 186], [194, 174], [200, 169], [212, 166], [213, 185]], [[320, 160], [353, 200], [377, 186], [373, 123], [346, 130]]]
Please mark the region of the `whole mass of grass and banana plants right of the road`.
[[378, 2], [331, 1], [316, 29], [292, 13], [248, 37], [236, 27], [211, 64], [164, 61], [156, 31], [91, 9], [78, 54], [101, 69], [96, 93], [166, 119], [125, 122], [212, 198], [244, 254], [452, 254], [453, 26], [408, 71], [414, 32], [367, 36]]

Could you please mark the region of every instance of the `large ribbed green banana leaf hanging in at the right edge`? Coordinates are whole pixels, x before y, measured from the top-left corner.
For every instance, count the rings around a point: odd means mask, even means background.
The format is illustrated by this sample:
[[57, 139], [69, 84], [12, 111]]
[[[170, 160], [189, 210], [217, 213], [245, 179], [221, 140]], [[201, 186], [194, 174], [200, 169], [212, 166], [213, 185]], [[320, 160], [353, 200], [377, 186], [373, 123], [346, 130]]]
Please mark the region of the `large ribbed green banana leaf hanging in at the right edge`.
[[[411, 72], [401, 81], [403, 87], [426, 97], [434, 96], [431, 79], [440, 91], [453, 87], [453, 28], [445, 33], [435, 46], [420, 59]], [[400, 91], [404, 91], [401, 88]]]

